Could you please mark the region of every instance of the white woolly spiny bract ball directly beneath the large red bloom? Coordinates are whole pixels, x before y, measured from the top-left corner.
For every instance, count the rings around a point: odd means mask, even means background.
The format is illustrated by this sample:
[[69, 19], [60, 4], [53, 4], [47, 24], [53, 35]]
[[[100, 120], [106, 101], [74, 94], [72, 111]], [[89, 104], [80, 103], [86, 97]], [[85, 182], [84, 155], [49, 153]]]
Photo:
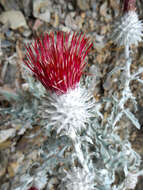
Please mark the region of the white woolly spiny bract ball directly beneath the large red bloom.
[[80, 87], [63, 95], [56, 93], [46, 95], [43, 109], [47, 127], [56, 127], [57, 133], [64, 130], [69, 135], [73, 130], [80, 131], [93, 116], [94, 106], [94, 97]]

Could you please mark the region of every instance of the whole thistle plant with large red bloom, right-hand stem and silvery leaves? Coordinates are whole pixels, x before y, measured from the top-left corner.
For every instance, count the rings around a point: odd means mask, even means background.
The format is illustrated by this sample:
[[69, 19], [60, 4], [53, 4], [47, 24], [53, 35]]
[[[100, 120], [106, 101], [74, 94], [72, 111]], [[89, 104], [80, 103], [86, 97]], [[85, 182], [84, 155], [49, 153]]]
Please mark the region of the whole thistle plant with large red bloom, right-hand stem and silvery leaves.
[[24, 62], [45, 87], [38, 108], [45, 121], [47, 140], [41, 147], [40, 174], [25, 175], [16, 190], [49, 190], [50, 176], [58, 176], [56, 188], [61, 190], [135, 188], [138, 176], [143, 175], [141, 157], [132, 149], [128, 129], [124, 131], [125, 137], [119, 134], [125, 117], [140, 129], [138, 119], [127, 104], [131, 100], [137, 110], [130, 85], [133, 80], [143, 83], [140, 79], [143, 68], [131, 73], [132, 45], [137, 46], [143, 36], [135, 3], [135, 0], [124, 1], [123, 16], [116, 21], [112, 35], [114, 43], [124, 48], [125, 63], [115, 65], [107, 79], [118, 70], [123, 71], [120, 76], [123, 89], [99, 102], [95, 101], [93, 87], [90, 92], [88, 84], [93, 77], [88, 76], [85, 83], [81, 80], [86, 55], [92, 48], [85, 35], [45, 34], [27, 46]]

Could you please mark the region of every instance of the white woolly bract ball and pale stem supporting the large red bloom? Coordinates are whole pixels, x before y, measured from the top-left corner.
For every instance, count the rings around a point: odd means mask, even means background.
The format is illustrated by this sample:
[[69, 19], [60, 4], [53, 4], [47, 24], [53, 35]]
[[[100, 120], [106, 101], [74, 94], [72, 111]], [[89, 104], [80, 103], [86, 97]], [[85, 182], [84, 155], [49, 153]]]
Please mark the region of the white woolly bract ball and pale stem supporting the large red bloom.
[[86, 89], [78, 86], [67, 94], [51, 94], [43, 101], [44, 117], [48, 125], [56, 128], [59, 135], [67, 135], [73, 140], [73, 145], [79, 162], [89, 173], [87, 160], [84, 158], [81, 146], [81, 131], [89, 125], [90, 118], [98, 113], [100, 106], [95, 106], [95, 99]]

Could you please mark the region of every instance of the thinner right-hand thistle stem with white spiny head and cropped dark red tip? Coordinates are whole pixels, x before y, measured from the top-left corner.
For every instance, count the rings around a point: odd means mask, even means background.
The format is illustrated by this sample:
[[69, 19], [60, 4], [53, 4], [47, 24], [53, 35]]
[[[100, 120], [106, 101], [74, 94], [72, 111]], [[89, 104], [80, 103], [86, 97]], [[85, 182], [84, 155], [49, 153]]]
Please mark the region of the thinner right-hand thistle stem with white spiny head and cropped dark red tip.
[[[136, 1], [135, 0], [125, 0], [124, 1], [124, 15], [120, 19], [120, 22], [115, 24], [115, 30], [113, 33], [114, 42], [120, 46], [124, 46], [124, 55], [125, 55], [125, 66], [120, 67], [117, 70], [123, 70], [124, 79], [121, 76], [121, 81], [123, 82], [124, 89], [122, 91], [122, 98], [119, 100], [118, 106], [121, 109], [120, 116], [124, 113], [133, 124], [140, 129], [140, 124], [135, 116], [125, 108], [125, 103], [130, 99], [134, 108], [137, 111], [137, 102], [136, 98], [133, 96], [130, 83], [133, 80], [138, 80], [142, 83], [142, 80], [139, 78], [139, 75], [143, 72], [143, 68], [131, 74], [131, 64], [132, 64], [132, 45], [137, 46], [139, 42], [142, 41], [143, 37], [143, 23], [138, 19], [136, 13]], [[114, 69], [116, 70], [116, 68]], [[112, 71], [112, 73], [114, 73]]]

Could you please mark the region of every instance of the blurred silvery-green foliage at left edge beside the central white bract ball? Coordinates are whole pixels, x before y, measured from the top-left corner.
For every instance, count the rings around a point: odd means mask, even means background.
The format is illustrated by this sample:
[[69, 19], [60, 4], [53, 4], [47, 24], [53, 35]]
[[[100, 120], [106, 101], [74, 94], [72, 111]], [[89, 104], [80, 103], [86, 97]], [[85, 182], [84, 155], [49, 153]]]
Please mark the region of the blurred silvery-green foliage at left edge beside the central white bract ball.
[[10, 107], [0, 109], [0, 113], [4, 118], [7, 118], [5, 115], [10, 115], [10, 118], [5, 119], [3, 124], [6, 125], [6, 123], [11, 122], [14, 125], [20, 125], [19, 134], [24, 133], [33, 124], [37, 124], [40, 98], [44, 94], [44, 88], [39, 82], [34, 81], [31, 76], [28, 76], [27, 79], [27, 90], [18, 89], [17, 92], [0, 92], [10, 102]]

